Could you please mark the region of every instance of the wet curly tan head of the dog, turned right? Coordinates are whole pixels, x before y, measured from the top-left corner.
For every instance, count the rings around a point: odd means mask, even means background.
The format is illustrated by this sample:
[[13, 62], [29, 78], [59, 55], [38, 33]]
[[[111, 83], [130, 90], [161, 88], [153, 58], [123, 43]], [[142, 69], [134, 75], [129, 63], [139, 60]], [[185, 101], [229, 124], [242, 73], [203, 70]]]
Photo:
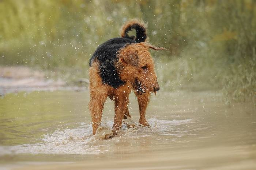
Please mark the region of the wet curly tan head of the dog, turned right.
[[163, 50], [148, 43], [135, 43], [121, 48], [118, 53], [117, 69], [121, 80], [130, 82], [139, 94], [158, 91], [154, 61], [149, 49]]

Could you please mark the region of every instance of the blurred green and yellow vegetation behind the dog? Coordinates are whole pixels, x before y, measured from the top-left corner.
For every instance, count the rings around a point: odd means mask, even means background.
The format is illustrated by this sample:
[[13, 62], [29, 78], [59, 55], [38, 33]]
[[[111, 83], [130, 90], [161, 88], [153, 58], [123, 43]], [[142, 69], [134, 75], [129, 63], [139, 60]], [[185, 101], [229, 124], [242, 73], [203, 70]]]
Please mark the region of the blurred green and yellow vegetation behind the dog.
[[89, 59], [130, 18], [148, 22], [162, 90], [256, 99], [255, 0], [0, 0], [0, 65], [88, 78]]

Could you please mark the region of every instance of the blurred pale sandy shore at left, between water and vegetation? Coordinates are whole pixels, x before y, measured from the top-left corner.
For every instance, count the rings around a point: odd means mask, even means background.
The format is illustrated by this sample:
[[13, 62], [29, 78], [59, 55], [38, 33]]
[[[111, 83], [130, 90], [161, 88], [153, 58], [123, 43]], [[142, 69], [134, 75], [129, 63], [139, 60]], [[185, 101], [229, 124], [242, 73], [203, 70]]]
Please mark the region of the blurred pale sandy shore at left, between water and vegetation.
[[0, 67], [0, 95], [20, 91], [82, 90], [63, 80], [48, 78], [44, 72], [29, 67]]

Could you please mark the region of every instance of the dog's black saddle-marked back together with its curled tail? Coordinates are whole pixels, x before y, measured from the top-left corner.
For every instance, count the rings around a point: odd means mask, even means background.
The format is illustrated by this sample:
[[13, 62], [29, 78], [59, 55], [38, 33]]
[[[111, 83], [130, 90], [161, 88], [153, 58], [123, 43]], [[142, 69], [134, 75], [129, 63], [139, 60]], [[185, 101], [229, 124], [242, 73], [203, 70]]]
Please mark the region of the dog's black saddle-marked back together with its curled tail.
[[[128, 35], [128, 32], [132, 29], [136, 30], [136, 37]], [[91, 66], [92, 63], [97, 60], [102, 82], [114, 88], [118, 88], [124, 84], [124, 82], [120, 80], [115, 68], [115, 64], [118, 61], [118, 51], [129, 44], [140, 43], [146, 40], [147, 35], [144, 23], [136, 19], [129, 21], [121, 28], [121, 36], [122, 37], [113, 38], [101, 44], [94, 52], [89, 63], [89, 66]]]

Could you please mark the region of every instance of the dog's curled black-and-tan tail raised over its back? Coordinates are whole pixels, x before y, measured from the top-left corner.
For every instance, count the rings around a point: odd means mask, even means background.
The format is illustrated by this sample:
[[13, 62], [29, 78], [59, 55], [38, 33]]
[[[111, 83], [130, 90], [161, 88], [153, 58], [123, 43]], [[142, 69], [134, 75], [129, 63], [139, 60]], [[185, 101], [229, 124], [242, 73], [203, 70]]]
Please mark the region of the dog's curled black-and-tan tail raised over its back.
[[[132, 29], [136, 30], [136, 37], [134, 35], [128, 35], [128, 32]], [[122, 26], [121, 36], [135, 40], [137, 43], [143, 42], [147, 39], [146, 24], [144, 24], [143, 21], [139, 21], [138, 19], [129, 20]]]

